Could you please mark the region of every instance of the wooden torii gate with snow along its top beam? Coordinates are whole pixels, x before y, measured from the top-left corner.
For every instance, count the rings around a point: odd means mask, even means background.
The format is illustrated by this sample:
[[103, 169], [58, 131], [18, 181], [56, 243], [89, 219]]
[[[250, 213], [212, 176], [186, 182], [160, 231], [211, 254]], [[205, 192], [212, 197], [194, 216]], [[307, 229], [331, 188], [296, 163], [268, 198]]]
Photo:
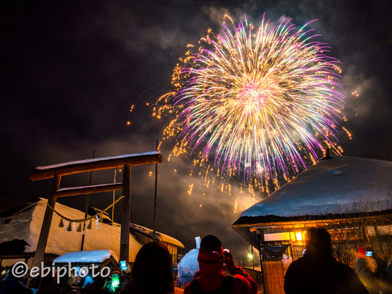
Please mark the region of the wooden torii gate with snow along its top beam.
[[[60, 164], [48, 165], [46, 167], [36, 167], [31, 169], [30, 179], [39, 181], [53, 177], [52, 187], [48, 198], [48, 205], [56, 205], [57, 197], [75, 196], [82, 194], [93, 194], [105, 191], [116, 191], [123, 189], [121, 202], [121, 235], [120, 235], [120, 260], [129, 261], [129, 222], [130, 222], [130, 167], [140, 164], [154, 164], [162, 162], [159, 151], [144, 152], [138, 154], [123, 154], [114, 157], [101, 157], [95, 159], [78, 160], [74, 162], [64, 162]], [[77, 174], [81, 172], [92, 172], [102, 169], [123, 168], [123, 183], [99, 184], [86, 187], [60, 187], [61, 177], [67, 174]], [[40, 266], [45, 254], [46, 243], [48, 242], [49, 230], [53, 210], [46, 206], [45, 216], [39, 235], [33, 266]]]

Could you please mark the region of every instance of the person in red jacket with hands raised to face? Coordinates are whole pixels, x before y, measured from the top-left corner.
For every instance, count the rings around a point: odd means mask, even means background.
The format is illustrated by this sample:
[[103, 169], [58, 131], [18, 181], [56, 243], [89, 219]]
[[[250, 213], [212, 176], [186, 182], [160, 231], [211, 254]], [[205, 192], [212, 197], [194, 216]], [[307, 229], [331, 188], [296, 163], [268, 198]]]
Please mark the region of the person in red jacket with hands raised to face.
[[[232, 254], [223, 250], [216, 236], [208, 235], [202, 239], [197, 261], [200, 271], [197, 278], [187, 284], [184, 294], [257, 293], [257, 283], [242, 268], [235, 266]], [[225, 273], [225, 264], [229, 275]]]

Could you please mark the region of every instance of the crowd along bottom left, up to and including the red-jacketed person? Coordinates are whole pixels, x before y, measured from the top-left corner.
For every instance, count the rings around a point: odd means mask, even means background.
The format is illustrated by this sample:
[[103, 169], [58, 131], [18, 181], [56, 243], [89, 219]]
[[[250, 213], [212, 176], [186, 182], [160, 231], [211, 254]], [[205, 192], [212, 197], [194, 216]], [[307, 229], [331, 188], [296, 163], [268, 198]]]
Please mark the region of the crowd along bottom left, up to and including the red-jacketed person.
[[30, 280], [28, 287], [27, 277], [14, 276], [13, 268], [10, 268], [6, 278], [0, 281], [0, 294], [257, 293], [257, 283], [242, 268], [235, 266], [232, 254], [223, 251], [217, 237], [210, 235], [203, 238], [197, 260], [200, 271], [185, 290], [175, 288], [170, 253], [165, 244], [155, 241], [140, 248], [132, 271], [120, 273], [115, 288], [110, 278], [98, 276], [88, 282], [88, 277], [80, 278], [77, 275], [60, 278], [60, 283], [57, 283], [56, 275], [35, 278]]

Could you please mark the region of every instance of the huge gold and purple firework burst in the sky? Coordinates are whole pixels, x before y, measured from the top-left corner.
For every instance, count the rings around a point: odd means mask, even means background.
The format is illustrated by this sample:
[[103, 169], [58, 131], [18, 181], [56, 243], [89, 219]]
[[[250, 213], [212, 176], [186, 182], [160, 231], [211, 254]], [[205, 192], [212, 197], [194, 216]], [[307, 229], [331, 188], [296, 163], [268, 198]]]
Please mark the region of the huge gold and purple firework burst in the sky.
[[[195, 166], [244, 182], [279, 186], [336, 144], [344, 96], [339, 61], [314, 41], [309, 23], [290, 19], [258, 29], [226, 17], [220, 34], [208, 31], [200, 46], [180, 58], [175, 91], [158, 100], [154, 115], [175, 115], [163, 140], [175, 137], [172, 154], [192, 154]], [[163, 103], [163, 106], [159, 106]], [[204, 176], [203, 176], [204, 177]], [[263, 184], [264, 183], [264, 184]]]

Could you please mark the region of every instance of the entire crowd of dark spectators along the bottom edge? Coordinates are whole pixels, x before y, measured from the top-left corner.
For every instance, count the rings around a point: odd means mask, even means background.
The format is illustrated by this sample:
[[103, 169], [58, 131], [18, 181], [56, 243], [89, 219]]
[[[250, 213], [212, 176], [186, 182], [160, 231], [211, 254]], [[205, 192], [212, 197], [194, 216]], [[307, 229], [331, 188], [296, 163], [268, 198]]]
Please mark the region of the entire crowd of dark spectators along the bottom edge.
[[[132, 271], [110, 278], [63, 277], [57, 283], [56, 275], [35, 278], [26, 285], [26, 277], [17, 278], [12, 268], [0, 280], [0, 294], [99, 294], [99, 293], [183, 293], [184, 294], [257, 294], [262, 288], [236, 266], [232, 253], [223, 249], [216, 236], [205, 236], [197, 256], [200, 270], [184, 290], [175, 287], [172, 258], [165, 244], [155, 241], [145, 244], [135, 258]], [[324, 229], [309, 229], [306, 253], [293, 261], [284, 277], [287, 294], [391, 294], [392, 258], [388, 263], [380, 258], [360, 257], [354, 269], [339, 263], [333, 257], [331, 236]]]

